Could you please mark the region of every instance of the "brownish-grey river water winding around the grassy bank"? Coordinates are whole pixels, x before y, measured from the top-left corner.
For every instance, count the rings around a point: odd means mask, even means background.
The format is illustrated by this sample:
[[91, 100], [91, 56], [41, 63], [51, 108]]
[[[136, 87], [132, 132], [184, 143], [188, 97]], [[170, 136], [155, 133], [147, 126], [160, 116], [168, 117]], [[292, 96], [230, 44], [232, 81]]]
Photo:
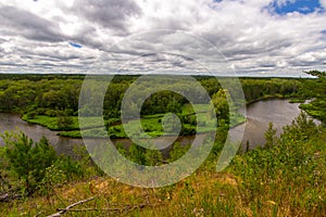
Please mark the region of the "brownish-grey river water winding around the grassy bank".
[[[264, 143], [264, 132], [268, 127], [268, 123], [273, 122], [277, 133], [281, 132], [284, 126], [291, 124], [291, 122], [299, 115], [299, 103], [289, 103], [287, 100], [272, 99], [266, 101], [254, 102], [247, 107], [247, 123], [230, 129], [230, 133], [240, 133], [240, 129], [244, 127], [244, 135], [242, 144], [247, 141], [250, 148], [261, 145]], [[5, 130], [14, 130], [18, 128], [24, 131], [34, 141], [39, 141], [41, 136], [46, 136], [53, 144], [58, 153], [72, 154], [75, 144], [82, 145], [83, 139], [65, 138], [57, 136], [57, 131], [51, 131], [45, 127], [25, 123], [16, 114], [0, 113], [0, 132]], [[167, 138], [155, 138], [156, 143], [166, 142]], [[92, 140], [93, 139], [89, 139]], [[179, 137], [181, 144], [191, 143], [192, 136]], [[99, 140], [93, 141], [95, 143]], [[122, 143], [125, 146], [130, 145], [128, 139], [113, 139], [113, 143]], [[3, 145], [3, 140], [0, 138], [0, 144]]]

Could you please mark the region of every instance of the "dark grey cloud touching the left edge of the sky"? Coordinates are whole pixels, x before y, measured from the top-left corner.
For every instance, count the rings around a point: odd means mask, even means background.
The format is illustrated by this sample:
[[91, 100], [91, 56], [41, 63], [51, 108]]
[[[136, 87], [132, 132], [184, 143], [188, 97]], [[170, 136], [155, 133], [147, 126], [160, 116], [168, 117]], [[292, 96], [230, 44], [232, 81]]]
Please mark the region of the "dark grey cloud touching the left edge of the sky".
[[55, 23], [13, 7], [0, 7], [0, 29], [8, 35], [22, 36], [30, 40], [49, 42], [63, 40]]

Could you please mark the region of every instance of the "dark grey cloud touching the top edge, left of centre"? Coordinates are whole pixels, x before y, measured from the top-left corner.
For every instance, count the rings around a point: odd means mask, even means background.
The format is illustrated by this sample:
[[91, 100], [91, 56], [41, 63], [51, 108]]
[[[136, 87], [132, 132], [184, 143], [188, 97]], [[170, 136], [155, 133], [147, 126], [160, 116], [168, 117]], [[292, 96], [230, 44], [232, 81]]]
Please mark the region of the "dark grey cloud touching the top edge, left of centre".
[[117, 31], [125, 31], [126, 20], [141, 14], [133, 0], [78, 0], [72, 10], [90, 22]]

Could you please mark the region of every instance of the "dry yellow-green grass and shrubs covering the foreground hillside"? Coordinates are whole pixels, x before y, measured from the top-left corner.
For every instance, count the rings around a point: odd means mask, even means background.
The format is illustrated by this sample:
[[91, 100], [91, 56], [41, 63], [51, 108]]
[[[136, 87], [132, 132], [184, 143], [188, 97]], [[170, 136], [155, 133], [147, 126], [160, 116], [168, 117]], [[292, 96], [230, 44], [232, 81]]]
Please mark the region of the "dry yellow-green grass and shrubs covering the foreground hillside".
[[[1, 216], [46, 216], [78, 201], [73, 216], [324, 216], [326, 213], [326, 129], [301, 114], [280, 138], [273, 126], [267, 143], [239, 153], [216, 173], [218, 151], [190, 177], [170, 187], [128, 187], [88, 166], [84, 178], [59, 178], [57, 166], [43, 176], [45, 191], [0, 203]], [[175, 156], [183, 153], [177, 148]], [[215, 146], [215, 150], [218, 150]], [[184, 150], [185, 151], [185, 150]], [[131, 151], [133, 152], [133, 151]], [[129, 153], [131, 153], [129, 151]], [[136, 155], [129, 155], [137, 161]], [[136, 157], [136, 158], [135, 158]], [[146, 157], [145, 157], [146, 158]], [[159, 157], [160, 158], [160, 157]], [[159, 159], [162, 161], [162, 159]], [[45, 183], [45, 182], [40, 182]], [[59, 209], [64, 210], [64, 209]]]

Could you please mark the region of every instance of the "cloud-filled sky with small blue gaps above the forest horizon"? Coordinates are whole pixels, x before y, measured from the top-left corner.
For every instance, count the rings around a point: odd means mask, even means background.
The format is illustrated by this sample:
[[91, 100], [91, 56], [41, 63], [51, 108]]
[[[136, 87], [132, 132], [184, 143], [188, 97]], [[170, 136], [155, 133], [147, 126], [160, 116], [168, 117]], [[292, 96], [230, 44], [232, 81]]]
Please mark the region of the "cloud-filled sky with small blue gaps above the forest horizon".
[[326, 0], [0, 0], [0, 73], [304, 76]]

